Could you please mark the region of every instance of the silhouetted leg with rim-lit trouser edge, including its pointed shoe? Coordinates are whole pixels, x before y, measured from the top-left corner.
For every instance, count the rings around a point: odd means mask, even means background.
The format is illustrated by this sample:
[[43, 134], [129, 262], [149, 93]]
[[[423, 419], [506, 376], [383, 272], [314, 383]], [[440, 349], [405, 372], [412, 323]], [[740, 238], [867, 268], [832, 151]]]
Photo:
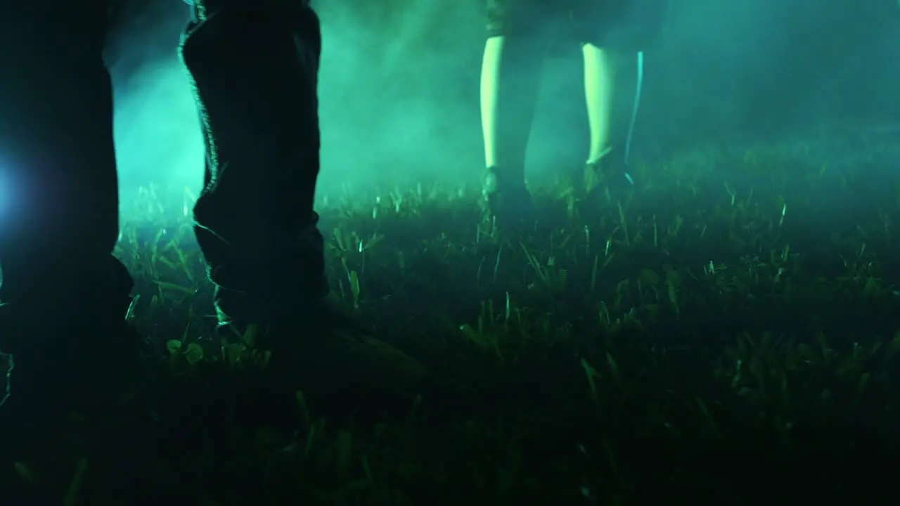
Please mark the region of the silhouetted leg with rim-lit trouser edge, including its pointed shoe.
[[[329, 402], [377, 402], [418, 388], [427, 370], [373, 339], [328, 301], [312, 209], [320, 168], [320, 25], [307, 5], [203, 2], [182, 44], [207, 138], [197, 239], [226, 330], [257, 325], [269, 370]], [[232, 334], [233, 335], [233, 334]], [[378, 392], [378, 394], [374, 394]]]

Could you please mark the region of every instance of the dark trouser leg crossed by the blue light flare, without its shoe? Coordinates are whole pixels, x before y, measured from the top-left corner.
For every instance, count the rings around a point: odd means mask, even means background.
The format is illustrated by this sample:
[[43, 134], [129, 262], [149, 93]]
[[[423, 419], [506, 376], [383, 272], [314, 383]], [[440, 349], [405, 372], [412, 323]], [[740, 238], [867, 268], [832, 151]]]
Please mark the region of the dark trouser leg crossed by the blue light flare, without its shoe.
[[119, 202], [106, 5], [30, 4], [0, 2], [0, 300], [62, 316], [112, 296], [121, 304], [130, 289], [111, 257]]

